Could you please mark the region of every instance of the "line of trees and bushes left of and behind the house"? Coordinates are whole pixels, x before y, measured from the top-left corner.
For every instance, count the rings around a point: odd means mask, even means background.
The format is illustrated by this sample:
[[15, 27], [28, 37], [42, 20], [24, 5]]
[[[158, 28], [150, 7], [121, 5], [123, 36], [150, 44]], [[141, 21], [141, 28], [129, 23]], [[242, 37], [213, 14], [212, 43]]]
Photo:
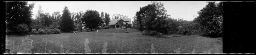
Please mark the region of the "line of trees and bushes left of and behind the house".
[[[32, 32], [33, 29], [60, 29], [64, 32], [81, 31], [81, 29], [99, 29], [105, 27], [110, 22], [110, 15], [96, 10], [86, 10], [77, 13], [70, 12], [67, 6], [64, 6], [62, 14], [55, 11], [50, 15], [42, 10], [41, 5], [32, 18], [32, 9], [35, 3], [27, 2], [6, 2], [7, 29], [16, 32]], [[115, 18], [127, 18], [127, 16], [115, 14]]]

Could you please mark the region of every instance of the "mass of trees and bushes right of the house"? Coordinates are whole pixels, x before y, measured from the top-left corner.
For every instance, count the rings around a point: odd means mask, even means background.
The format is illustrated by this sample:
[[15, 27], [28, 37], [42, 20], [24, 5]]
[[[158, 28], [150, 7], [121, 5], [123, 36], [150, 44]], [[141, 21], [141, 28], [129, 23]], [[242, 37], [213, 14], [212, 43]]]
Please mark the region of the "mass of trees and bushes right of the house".
[[159, 34], [207, 34], [222, 36], [222, 2], [207, 2], [208, 4], [198, 11], [193, 21], [173, 19], [167, 15], [163, 3], [152, 2], [143, 6], [133, 17], [135, 29], [143, 31], [145, 35]]

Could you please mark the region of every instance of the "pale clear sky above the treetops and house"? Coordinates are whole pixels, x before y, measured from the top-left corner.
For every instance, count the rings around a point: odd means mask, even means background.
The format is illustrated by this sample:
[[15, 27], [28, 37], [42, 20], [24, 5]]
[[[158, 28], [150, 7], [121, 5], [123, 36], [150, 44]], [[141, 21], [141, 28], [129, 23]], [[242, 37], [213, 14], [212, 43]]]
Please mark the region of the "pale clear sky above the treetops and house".
[[[199, 16], [197, 12], [201, 10], [202, 8], [207, 5], [204, 1], [158, 1], [162, 2], [164, 4], [165, 10], [167, 10], [167, 14], [170, 15], [169, 17], [178, 19], [182, 18], [187, 21], [192, 21], [196, 16]], [[30, 1], [28, 3], [33, 3], [33, 1]], [[114, 14], [121, 14], [126, 15], [128, 18], [131, 18], [131, 21], [133, 21], [133, 17], [135, 16], [136, 12], [140, 10], [140, 7], [147, 6], [150, 4], [150, 1], [105, 1], [105, 2], [99, 2], [99, 1], [75, 1], [75, 2], [40, 2], [36, 1], [34, 2], [34, 8], [32, 18], [35, 19], [35, 15], [37, 11], [39, 10], [39, 5], [41, 5], [43, 12], [48, 12], [50, 15], [54, 11], [59, 11], [62, 14], [62, 10], [64, 10], [64, 6], [67, 6], [69, 8], [69, 11], [72, 13], [77, 13], [79, 11], [85, 12], [86, 10], [96, 10], [99, 12], [108, 13], [110, 17]], [[218, 3], [218, 2], [216, 2]]]

